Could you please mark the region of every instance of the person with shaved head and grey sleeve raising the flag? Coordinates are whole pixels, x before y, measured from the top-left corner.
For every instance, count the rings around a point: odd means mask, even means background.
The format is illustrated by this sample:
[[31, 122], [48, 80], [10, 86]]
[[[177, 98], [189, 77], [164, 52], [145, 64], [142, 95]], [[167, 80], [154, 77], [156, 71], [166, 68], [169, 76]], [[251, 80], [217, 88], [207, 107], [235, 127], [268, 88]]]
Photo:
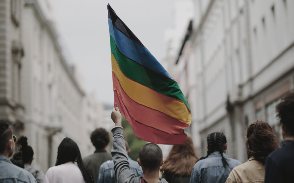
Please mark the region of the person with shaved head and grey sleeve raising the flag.
[[111, 129], [113, 134], [111, 155], [114, 162], [115, 181], [117, 183], [168, 183], [166, 179], [159, 179], [158, 172], [164, 160], [160, 147], [153, 143], [144, 145], [137, 159], [138, 164], [142, 166], [144, 177], [137, 177], [131, 172], [118, 106], [113, 108], [111, 119], [115, 123], [115, 127]]

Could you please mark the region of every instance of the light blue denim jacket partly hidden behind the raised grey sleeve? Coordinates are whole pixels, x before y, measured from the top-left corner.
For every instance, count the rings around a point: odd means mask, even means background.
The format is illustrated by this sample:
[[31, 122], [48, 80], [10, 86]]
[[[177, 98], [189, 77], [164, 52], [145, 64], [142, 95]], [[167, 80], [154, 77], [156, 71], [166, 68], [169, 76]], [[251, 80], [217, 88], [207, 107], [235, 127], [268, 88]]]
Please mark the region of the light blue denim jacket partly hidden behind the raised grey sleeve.
[[[138, 177], [143, 177], [142, 168], [139, 169], [138, 162], [132, 160], [130, 157], [128, 157], [128, 161], [130, 163], [130, 169], [131, 171], [136, 174]], [[113, 160], [108, 160], [107, 162], [104, 162], [100, 166], [99, 175], [98, 175], [98, 181], [97, 183], [116, 183], [114, 178], [114, 163]], [[142, 173], [140, 173], [142, 172]]]

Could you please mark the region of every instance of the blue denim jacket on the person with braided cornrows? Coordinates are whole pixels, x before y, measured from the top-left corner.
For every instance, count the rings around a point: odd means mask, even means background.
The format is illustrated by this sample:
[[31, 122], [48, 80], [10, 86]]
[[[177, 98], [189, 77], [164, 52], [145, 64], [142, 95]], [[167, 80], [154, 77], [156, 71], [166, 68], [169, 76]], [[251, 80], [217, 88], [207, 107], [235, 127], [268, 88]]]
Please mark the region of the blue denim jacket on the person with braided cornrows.
[[225, 153], [223, 157], [228, 162], [227, 167], [223, 166], [219, 152], [213, 152], [209, 157], [198, 161], [192, 170], [190, 183], [225, 183], [232, 169], [241, 162], [227, 157]]

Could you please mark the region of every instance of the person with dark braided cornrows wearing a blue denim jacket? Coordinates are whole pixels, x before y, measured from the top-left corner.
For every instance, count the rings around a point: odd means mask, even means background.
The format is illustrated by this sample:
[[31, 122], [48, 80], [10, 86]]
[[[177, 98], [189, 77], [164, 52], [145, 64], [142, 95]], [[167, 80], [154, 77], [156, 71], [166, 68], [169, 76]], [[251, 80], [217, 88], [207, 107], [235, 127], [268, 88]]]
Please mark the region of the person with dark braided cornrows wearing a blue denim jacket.
[[190, 183], [225, 183], [240, 161], [225, 155], [227, 139], [223, 133], [214, 132], [207, 136], [207, 155], [201, 157], [192, 170]]

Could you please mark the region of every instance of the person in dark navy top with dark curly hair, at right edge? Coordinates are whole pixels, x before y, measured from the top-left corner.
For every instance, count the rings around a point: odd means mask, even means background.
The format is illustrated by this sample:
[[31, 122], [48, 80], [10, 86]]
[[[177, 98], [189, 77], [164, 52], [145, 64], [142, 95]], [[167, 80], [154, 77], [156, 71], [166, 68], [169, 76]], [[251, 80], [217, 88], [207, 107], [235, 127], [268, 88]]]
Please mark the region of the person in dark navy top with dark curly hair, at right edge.
[[[284, 133], [294, 136], [294, 90], [276, 106]], [[294, 182], [294, 142], [272, 152], [265, 162], [265, 183]]]

